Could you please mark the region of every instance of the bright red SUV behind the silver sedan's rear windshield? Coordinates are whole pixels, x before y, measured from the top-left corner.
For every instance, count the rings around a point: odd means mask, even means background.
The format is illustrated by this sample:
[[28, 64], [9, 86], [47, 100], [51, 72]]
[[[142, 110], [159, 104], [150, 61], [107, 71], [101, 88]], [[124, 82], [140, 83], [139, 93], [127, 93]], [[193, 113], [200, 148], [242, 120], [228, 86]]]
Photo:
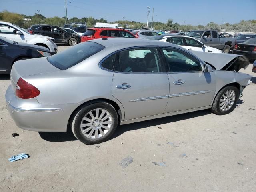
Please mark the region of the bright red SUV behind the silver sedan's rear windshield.
[[98, 39], [98, 38], [110, 38], [110, 37], [127, 37], [137, 38], [134, 34], [119, 28], [90, 28], [82, 35], [81, 42]]

